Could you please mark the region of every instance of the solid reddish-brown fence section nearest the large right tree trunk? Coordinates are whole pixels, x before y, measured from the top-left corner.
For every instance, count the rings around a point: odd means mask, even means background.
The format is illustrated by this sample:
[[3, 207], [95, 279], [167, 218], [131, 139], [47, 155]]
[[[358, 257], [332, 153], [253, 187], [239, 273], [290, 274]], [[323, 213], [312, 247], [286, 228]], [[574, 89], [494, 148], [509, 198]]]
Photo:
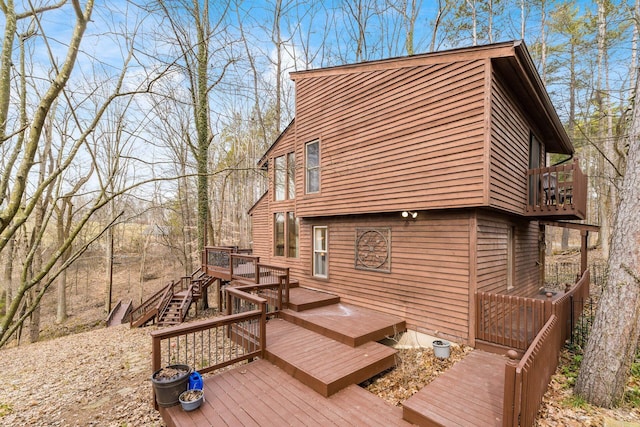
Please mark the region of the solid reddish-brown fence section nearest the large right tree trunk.
[[533, 425], [558, 367], [562, 329], [559, 318], [551, 315], [520, 362], [514, 359], [505, 365], [503, 426]]

